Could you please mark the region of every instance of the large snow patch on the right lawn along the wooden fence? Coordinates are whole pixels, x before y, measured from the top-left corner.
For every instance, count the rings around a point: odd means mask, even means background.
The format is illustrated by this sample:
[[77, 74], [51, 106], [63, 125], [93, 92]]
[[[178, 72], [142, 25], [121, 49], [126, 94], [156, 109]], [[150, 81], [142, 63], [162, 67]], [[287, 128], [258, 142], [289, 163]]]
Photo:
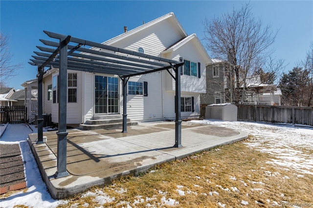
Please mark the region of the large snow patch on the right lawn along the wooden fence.
[[[246, 142], [246, 145], [269, 153], [276, 158], [267, 163], [291, 168], [299, 173], [313, 174], [313, 158], [310, 156], [310, 152], [313, 150], [312, 127], [213, 120], [191, 122], [245, 131], [254, 138], [254, 140]], [[301, 174], [298, 177], [301, 177]]]

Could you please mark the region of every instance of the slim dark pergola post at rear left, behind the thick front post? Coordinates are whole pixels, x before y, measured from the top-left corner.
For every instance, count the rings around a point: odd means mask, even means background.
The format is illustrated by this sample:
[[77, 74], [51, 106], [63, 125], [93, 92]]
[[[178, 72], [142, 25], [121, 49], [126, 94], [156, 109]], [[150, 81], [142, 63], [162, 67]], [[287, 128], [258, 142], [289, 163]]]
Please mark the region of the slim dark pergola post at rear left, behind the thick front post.
[[[38, 118], [37, 118], [37, 136], [38, 141], [37, 144], [43, 144], [43, 77], [44, 77], [44, 68], [38, 67]], [[28, 90], [28, 87], [27, 87]], [[29, 90], [28, 90], [29, 97]], [[30, 103], [30, 104], [29, 104]], [[31, 99], [28, 99], [28, 108], [31, 107]], [[29, 109], [27, 110], [29, 111]]]

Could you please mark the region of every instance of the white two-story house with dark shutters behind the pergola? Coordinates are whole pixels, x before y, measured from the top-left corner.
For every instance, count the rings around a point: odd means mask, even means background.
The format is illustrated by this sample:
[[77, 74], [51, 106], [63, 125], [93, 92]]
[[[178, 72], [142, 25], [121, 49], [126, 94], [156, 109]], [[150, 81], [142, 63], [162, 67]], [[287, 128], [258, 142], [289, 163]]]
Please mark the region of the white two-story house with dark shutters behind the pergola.
[[[174, 13], [103, 44], [184, 62], [181, 117], [200, 116], [200, 95], [206, 92], [205, 66], [212, 61], [196, 34], [188, 35]], [[122, 82], [117, 75], [67, 70], [67, 92], [59, 92], [58, 70], [51, 66], [43, 80], [43, 113], [51, 113], [52, 122], [58, 122], [58, 93], [67, 93], [67, 124], [85, 124], [96, 115], [122, 114]], [[175, 81], [166, 70], [128, 81], [127, 117], [133, 121], [174, 119], [174, 101]]]

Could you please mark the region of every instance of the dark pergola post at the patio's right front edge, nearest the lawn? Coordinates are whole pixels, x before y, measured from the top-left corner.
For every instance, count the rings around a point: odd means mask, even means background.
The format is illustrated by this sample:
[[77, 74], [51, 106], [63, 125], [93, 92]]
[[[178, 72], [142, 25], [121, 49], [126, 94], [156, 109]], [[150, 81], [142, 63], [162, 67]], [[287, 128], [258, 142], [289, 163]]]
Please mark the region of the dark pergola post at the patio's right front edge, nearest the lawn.
[[180, 70], [181, 67], [175, 65], [175, 145], [174, 147], [182, 147], [181, 145], [181, 115], [180, 115]]

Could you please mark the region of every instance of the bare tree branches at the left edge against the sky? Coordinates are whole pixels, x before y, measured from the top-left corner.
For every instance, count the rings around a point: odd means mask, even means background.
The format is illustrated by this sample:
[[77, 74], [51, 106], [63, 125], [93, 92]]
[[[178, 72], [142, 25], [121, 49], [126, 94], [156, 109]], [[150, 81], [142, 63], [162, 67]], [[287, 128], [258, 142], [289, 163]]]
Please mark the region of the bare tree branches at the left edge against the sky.
[[22, 67], [22, 63], [12, 62], [13, 54], [9, 50], [9, 36], [0, 33], [0, 87], [6, 86], [11, 78], [17, 75], [17, 69]]

